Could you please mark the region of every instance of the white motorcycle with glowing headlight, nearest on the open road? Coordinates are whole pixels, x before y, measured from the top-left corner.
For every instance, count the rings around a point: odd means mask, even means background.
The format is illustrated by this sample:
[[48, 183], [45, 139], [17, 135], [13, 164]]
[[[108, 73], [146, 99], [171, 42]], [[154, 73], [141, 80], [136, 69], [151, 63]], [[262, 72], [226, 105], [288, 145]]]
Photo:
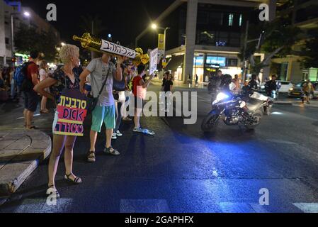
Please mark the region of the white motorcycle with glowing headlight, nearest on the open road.
[[268, 105], [268, 99], [266, 101], [250, 99], [246, 105], [240, 95], [220, 92], [212, 102], [212, 111], [203, 119], [201, 129], [205, 133], [215, 131], [220, 119], [225, 116], [223, 121], [227, 126], [237, 125], [246, 130], [254, 130], [261, 122], [262, 110], [266, 105]]

